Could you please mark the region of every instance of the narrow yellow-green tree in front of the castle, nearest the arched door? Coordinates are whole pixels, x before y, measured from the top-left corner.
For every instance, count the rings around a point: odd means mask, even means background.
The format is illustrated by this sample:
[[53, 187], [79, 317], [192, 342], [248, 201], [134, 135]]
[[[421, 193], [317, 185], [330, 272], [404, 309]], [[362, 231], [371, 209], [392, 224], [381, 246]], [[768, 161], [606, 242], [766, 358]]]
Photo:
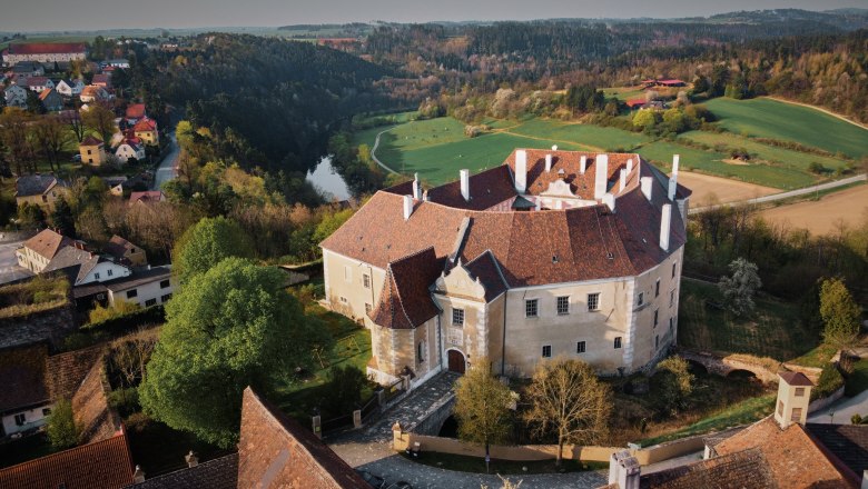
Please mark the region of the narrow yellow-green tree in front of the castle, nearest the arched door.
[[454, 413], [458, 420], [458, 438], [489, 445], [504, 441], [512, 429], [514, 403], [512, 391], [491, 372], [486, 358], [477, 358], [473, 367], [455, 385]]

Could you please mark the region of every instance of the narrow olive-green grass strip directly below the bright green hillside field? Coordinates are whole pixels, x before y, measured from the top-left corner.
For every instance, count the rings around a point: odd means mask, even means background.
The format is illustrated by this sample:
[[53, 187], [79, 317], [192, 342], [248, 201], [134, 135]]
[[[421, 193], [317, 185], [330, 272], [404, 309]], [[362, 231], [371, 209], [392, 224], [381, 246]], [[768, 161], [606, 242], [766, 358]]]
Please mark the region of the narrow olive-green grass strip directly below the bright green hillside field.
[[[753, 141], [749, 138], [733, 134], [732, 132], [714, 133], [704, 131], [690, 131], [681, 134], [681, 137], [712, 147], [716, 144], [726, 144], [727, 150], [743, 148], [748, 150], [749, 153], [751, 153], [751, 157], [756, 154], [756, 157], [760, 160], [785, 167], [793, 167], [805, 171], [807, 171], [808, 167], [813, 162], [820, 163], [829, 170], [835, 170], [847, 166], [847, 161], [839, 158], [821, 157], [819, 154], [793, 151], [786, 148], [777, 148]], [[866, 137], [868, 138], [868, 134], [866, 134]]]

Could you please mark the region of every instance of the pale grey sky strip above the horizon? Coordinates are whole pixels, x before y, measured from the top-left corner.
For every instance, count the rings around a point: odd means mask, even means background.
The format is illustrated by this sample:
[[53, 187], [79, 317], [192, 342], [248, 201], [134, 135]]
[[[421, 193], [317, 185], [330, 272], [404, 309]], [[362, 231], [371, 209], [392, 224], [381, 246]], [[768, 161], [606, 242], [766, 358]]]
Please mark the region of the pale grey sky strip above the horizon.
[[673, 18], [737, 10], [868, 8], [868, 0], [4, 0], [0, 31], [277, 27], [375, 20]]

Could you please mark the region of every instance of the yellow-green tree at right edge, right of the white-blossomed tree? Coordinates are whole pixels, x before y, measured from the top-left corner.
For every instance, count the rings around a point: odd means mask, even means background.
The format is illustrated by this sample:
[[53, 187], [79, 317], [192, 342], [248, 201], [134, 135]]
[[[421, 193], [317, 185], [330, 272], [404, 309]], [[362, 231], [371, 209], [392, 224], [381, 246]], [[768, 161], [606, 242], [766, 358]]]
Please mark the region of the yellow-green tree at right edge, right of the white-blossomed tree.
[[861, 308], [839, 278], [823, 280], [820, 285], [820, 317], [825, 325], [823, 340], [838, 349], [851, 347], [859, 336]]

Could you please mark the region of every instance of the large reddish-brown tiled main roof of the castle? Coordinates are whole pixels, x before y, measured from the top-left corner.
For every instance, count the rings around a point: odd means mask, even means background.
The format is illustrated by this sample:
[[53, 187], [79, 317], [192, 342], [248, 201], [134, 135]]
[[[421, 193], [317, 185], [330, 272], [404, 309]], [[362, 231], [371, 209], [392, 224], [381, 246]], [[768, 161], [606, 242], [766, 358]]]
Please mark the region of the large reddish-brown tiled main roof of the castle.
[[[594, 158], [588, 158], [589, 166], [581, 174], [581, 156], [589, 153], [555, 151], [552, 169], [546, 172], [546, 153], [552, 151], [527, 151], [525, 194], [539, 194], [562, 180], [575, 194], [593, 199], [588, 189], [594, 186]], [[615, 190], [612, 177], [630, 159], [635, 164], [624, 188]], [[412, 183], [378, 191], [320, 246], [383, 270], [428, 247], [437, 259], [450, 258], [447, 267], [458, 261], [473, 263], [487, 252], [506, 287], [514, 288], [637, 276], [685, 241], [684, 223], [672, 206], [670, 246], [660, 248], [661, 209], [674, 203], [667, 194], [669, 180], [635, 154], [609, 154], [606, 181], [615, 193], [614, 212], [599, 201], [563, 210], [485, 210], [519, 194], [513, 164], [514, 153], [506, 164], [470, 177], [470, 201], [461, 196], [460, 182], [428, 190], [428, 200], [412, 201], [407, 219], [404, 194], [412, 191]], [[651, 200], [640, 188], [640, 178], [645, 177], [650, 177]], [[678, 187], [677, 198], [689, 194]], [[490, 282], [503, 287], [496, 280]]]

